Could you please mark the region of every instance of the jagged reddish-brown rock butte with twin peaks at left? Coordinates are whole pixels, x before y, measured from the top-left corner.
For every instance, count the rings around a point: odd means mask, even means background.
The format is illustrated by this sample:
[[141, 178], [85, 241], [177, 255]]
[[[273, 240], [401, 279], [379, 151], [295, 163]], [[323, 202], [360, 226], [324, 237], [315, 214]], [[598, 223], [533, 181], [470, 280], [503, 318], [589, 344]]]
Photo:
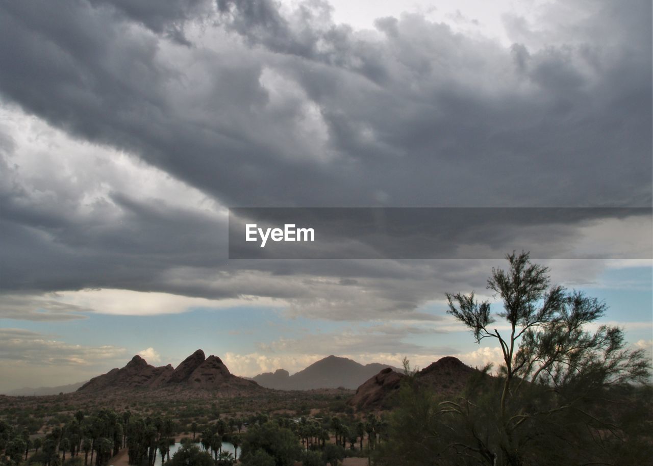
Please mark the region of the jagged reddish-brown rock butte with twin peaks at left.
[[253, 381], [236, 377], [217, 356], [197, 350], [177, 367], [155, 367], [136, 355], [121, 369], [93, 377], [78, 393], [125, 390], [261, 390]]

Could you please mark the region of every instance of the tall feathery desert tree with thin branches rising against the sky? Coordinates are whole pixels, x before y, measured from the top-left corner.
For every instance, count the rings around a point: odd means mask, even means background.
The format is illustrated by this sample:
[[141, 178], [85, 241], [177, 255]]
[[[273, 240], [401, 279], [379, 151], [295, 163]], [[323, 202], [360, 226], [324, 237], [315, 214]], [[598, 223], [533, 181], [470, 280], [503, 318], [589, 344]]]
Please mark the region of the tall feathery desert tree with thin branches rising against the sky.
[[[601, 432], [619, 437], [611, 414], [597, 412], [597, 398], [608, 396], [612, 386], [645, 381], [648, 362], [643, 351], [626, 349], [620, 328], [586, 330], [603, 316], [604, 303], [551, 286], [549, 268], [532, 264], [528, 253], [506, 258], [509, 270], [492, 269], [487, 288], [502, 300], [496, 317], [505, 320], [507, 330], [492, 325], [490, 302], [478, 302], [473, 292], [447, 294], [448, 313], [471, 330], [475, 341], [494, 339], [501, 349], [496, 399], [477, 397], [490, 407], [485, 411], [469, 398], [449, 401], [442, 405], [443, 414], [462, 416], [470, 426], [468, 441], [456, 445], [457, 451], [488, 464], [567, 462], [566, 453], [558, 458], [560, 452], [551, 448], [561, 434], [575, 441], [586, 431], [590, 437]], [[485, 428], [470, 422], [474, 416], [485, 418]], [[582, 456], [590, 461], [586, 452]]]

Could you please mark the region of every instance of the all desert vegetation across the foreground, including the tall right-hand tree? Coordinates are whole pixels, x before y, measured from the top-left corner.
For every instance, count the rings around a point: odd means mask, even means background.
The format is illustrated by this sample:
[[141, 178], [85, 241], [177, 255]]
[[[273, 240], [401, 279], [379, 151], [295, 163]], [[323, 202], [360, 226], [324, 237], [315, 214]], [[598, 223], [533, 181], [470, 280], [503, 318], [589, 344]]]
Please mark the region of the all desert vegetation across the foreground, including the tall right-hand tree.
[[157, 458], [166, 466], [340, 466], [349, 456], [377, 466], [649, 462], [653, 388], [643, 352], [597, 322], [605, 304], [551, 285], [549, 270], [526, 253], [507, 259], [508, 270], [492, 270], [487, 283], [500, 311], [473, 293], [447, 295], [449, 313], [477, 343], [495, 343], [503, 360], [494, 373], [470, 369], [455, 395], [424, 383], [406, 360], [394, 408], [382, 413], [354, 412], [348, 390], [0, 396], [0, 466], [106, 466], [127, 447], [135, 466]]

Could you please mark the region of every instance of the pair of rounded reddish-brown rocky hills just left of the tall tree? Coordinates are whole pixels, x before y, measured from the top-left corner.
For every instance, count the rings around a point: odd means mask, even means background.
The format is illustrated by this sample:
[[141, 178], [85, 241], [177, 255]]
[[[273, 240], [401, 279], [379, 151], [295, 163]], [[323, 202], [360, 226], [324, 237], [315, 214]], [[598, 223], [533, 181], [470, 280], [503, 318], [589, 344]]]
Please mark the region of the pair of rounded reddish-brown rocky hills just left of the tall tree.
[[[446, 356], [424, 367], [415, 374], [415, 378], [438, 394], [453, 395], [462, 392], [474, 373], [479, 373], [478, 369], [472, 369], [458, 358]], [[390, 368], [383, 369], [357, 388], [356, 394], [349, 399], [349, 404], [358, 409], [389, 407], [393, 394], [400, 388], [405, 377], [404, 373]]]

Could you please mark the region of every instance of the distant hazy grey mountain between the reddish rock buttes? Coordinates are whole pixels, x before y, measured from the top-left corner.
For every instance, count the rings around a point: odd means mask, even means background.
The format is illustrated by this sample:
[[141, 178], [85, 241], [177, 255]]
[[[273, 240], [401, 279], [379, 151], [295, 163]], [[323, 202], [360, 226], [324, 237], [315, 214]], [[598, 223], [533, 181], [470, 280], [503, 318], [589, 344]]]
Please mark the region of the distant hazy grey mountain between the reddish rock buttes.
[[[313, 390], [315, 388], [350, 388], [355, 389], [364, 381], [389, 367], [385, 364], [359, 364], [356, 361], [338, 356], [328, 356], [293, 375], [278, 369], [253, 377], [253, 381], [266, 388], [277, 390]], [[395, 369], [392, 367], [392, 369]]]

